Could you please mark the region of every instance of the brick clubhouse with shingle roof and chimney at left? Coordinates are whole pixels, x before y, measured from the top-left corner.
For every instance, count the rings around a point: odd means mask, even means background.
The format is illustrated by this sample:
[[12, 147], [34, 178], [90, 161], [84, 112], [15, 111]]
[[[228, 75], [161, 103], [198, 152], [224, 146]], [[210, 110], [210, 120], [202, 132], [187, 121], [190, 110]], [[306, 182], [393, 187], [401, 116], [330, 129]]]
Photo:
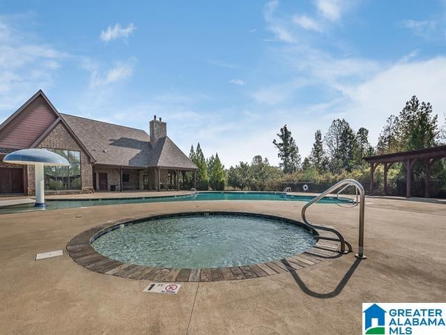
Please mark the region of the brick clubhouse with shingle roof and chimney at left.
[[33, 195], [33, 166], [8, 164], [12, 151], [42, 148], [68, 159], [69, 167], [45, 167], [46, 193], [180, 189], [197, 166], [153, 118], [149, 133], [59, 113], [38, 91], [0, 125], [0, 195]]

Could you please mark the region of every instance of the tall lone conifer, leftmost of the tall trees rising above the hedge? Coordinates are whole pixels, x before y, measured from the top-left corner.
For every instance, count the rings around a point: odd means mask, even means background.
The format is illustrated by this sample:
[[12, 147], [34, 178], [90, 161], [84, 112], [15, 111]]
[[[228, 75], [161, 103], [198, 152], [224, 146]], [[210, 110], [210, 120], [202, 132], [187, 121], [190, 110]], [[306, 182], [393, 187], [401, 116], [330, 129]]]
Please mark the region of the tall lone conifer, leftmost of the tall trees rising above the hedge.
[[280, 142], [273, 140], [272, 144], [279, 149], [277, 156], [282, 161], [279, 165], [285, 173], [295, 172], [295, 170], [300, 168], [300, 154], [299, 148], [291, 136], [291, 131], [285, 125], [283, 128], [280, 128], [280, 133], [277, 136]]

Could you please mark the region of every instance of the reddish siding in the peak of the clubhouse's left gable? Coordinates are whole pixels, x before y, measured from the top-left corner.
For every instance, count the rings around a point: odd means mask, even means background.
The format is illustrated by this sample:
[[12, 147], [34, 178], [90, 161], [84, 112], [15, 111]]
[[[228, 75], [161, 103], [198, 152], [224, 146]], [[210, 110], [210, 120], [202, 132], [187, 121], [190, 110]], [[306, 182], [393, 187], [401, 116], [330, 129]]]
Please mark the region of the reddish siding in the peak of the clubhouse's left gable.
[[38, 96], [1, 130], [0, 147], [11, 149], [31, 147], [56, 118], [56, 114], [45, 99]]

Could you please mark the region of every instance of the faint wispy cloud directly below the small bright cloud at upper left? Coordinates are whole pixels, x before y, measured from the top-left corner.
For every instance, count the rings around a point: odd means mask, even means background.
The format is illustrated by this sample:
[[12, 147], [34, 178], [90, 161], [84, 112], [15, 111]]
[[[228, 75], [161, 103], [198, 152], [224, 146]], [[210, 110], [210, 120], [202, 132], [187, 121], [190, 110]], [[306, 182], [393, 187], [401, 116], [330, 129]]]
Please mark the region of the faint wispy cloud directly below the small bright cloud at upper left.
[[128, 80], [133, 75], [135, 59], [129, 59], [125, 62], [118, 62], [105, 73], [101, 73], [96, 64], [88, 63], [84, 68], [91, 70], [90, 87], [102, 87], [122, 80]]

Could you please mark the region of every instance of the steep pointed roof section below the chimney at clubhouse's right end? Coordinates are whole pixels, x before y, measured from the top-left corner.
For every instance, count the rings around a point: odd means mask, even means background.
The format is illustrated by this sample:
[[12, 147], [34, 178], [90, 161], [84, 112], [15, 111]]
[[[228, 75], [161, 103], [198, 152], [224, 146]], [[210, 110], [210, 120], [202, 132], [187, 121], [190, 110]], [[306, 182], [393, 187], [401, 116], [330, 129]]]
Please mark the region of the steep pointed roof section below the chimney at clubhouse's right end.
[[183, 151], [168, 137], [162, 137], [153, 148], [152, 160], [149, 166], [160, 168], [187, 168], [196, 170], [197, 165], [192, 163]]

